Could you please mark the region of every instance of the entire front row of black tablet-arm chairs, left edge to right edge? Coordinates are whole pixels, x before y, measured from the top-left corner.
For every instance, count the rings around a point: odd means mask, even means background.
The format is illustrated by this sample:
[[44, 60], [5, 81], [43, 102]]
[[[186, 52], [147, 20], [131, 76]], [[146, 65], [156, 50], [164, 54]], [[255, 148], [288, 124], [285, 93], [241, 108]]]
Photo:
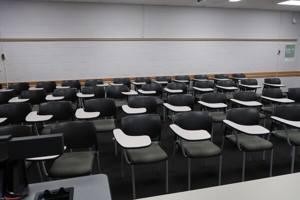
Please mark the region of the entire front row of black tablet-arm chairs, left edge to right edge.
[[[287, 111], [287, 112], [285, 112]], [[256, 108], [233, 108], [226, 112], [225, 130], [222, 146], [218, 147], [210, 141], [210, 130], [212, 116], [208, 111], [189, 111], [175, 115], [174, 123], [170, 128], [177, 137], [175, 144], [181, 148], [182, 154], [187, 157], [188, 164], [188, 189], [190, 189], [190, 159], [207, 158], [219, 156], [219, 180], [221, 182], [221, 160], [224, 141], [227, 139], [237, 145], [243, 153], [242, 180], [244, 178], [245, 152], [270, 150], [270, 171], [272, 173], [272, 149], [273, 145], [269, 142], [271, 134], [284, 139], [292, 147], [292, 169], [294, 162], [294, 148], [299, 146], [300, 134], [297, 129], [288, 127], [300, 127], [300, 106], [298, 105], [277, 105], [274, 106], [272, 125], [270, 130], [258, 125], [259, 114]], [[287, 114], [288, 113], [288, 114]], [[273, 130], [275, 124], [283, 126], [283, 130]], [[232, 134], [233, 131], [233, 134]], [[81, 148], [95, 146], [94, 153], [97, 153], [95, 142], [95, 127], [90, 121], [68, 121], [60, 122], [51, 127], [51, 133], [63, 132], [64, 144], [67, 148]], [[166, 192], [167, 182], [167, 154], [160, 148], [161, 120], [157, 114], [139, 114], [123, 117], [121, 129], [114, 129], [114, 136], [122, 147], [122, 158], [131, 165], [133, 198], [135, 198], [134, 184], [134, 165], [147, 164], [165, 161], [166, 164]], [[29, 126], [11, 125], [1, 126], [0, 134], [12, 134], [17, 136], [31, 135]], [[257, 135], [268, 134], [268, 139], [262, 139]], [[152, 142], [156, 138], [158, 142]], [[97, 156], [98, 157], [98, 156]], [[57, 155], [52, 164], [48, 175], [50, 177], [70, 177], [86, 175], [91, 173], [94, 154], [88, 152], [70, 152]], [[43, 158], [28, 158], [27, 160], [47, 160]], [[264, 157], [263, 157], [264, 159]], [[123, 162], [123, 159], [122, 159]], [[121, 162], [121, 169], [122, 169]], [[83, 164], [82, 164], [83, 163]], [[75, 167], [74, 167], [75, 166]], [[81, 166], [81, 167], [79, 167]], [[99, 166], [99, 165], [98, 165]], [[291, 171], [292, 172], [292, 171]], [[121, 174], [123, 172], [121, 170]]]

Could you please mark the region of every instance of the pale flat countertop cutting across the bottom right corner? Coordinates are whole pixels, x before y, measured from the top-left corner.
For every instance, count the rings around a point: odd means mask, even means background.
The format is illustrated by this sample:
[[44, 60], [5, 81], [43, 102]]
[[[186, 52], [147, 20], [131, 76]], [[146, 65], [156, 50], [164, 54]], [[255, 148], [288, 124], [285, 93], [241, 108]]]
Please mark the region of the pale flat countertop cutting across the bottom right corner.
[[254, 199], [299, 199], [300, 173], [291, 173], [203, 189], [195, 189], [143, 200], [254, 200]]

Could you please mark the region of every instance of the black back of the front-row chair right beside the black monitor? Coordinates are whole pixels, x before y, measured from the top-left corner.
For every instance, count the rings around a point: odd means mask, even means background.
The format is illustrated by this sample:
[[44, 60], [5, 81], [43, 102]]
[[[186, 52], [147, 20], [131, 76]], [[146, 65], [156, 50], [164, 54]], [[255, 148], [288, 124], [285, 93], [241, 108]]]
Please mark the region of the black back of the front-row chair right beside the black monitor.
[[66, 121], [51, 125], [51, 134], [63, 133], [67, 148], [85, 148], [95, 145], [97, 150], [96, 129], [91, 121]]

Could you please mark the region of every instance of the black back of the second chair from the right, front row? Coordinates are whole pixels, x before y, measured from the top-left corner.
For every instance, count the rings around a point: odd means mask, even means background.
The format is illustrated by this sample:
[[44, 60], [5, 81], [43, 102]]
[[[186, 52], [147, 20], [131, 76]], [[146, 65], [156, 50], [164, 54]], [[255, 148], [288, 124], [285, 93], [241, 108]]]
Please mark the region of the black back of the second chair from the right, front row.
[[241, 125], [258, 125], [259, 112], [253, 107], [238, 107], [226, 111], [226, 119]]

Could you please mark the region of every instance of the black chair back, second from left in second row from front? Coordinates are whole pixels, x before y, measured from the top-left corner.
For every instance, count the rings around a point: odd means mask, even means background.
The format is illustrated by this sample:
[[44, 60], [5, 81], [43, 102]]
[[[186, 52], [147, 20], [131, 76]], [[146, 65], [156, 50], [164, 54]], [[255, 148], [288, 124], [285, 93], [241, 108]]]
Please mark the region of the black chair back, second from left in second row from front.
[[52, 114], [50, 121], [68, 120], [73, 117], [71, 101], [49, 101], [39, 104], [38, 112], [41, 115]]

